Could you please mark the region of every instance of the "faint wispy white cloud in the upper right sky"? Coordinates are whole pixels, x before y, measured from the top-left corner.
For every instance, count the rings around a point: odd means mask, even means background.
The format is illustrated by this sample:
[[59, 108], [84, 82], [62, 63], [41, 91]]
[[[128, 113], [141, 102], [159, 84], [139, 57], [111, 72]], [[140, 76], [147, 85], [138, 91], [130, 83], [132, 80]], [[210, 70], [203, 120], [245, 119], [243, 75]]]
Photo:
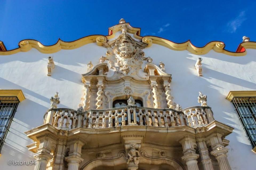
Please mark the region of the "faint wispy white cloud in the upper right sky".
[[239, 28], [246, 19], [247, 18], [245, 17], [245, 11], [240, 12], [235, 19], [227, 23], [228, 31], [230, 33], [236, 32], [237, 28]]

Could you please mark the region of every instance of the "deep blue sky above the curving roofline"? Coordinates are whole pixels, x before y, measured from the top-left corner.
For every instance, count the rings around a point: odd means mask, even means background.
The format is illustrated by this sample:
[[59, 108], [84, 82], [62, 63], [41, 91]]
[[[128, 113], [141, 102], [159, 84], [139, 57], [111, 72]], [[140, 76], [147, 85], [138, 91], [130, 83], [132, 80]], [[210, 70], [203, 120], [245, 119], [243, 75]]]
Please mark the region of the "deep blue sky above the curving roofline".
[[5, 1], [0, 0], [0, 40], [7, 50], [23, 39], [44, 45], [58, 38], [107, 35], [124, 18], [141, 28], [141, 36], [154, 35], [195, 46], [223, 41], [235, 51], [243, 36], [256, 41], [256, 1]]

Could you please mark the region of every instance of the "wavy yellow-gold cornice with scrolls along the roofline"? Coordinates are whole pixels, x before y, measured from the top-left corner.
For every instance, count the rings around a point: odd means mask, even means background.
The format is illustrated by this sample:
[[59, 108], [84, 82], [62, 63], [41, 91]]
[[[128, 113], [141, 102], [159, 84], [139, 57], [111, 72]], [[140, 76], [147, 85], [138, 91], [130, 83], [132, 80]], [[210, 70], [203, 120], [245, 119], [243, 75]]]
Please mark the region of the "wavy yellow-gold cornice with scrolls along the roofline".
[[[241, 48], [245, 49], [245, 51], [243, 52], [239, 52], [239, 50], [237, 50], [237, 52], [230, 52], [224, 49], [225, 44], [222, 43], [221, 41], [211, 41], [203, 47], [196, 47], [190, 42], [190, 40], [184, 43], [174, 43], [170, 40], [166, 40], [156, 36], [142, 37], [140, 36], [140, 32], [141, 32], [140, 28], [132, 27], [130, 26], [129, 23], [121, 23], [121, 24], [114, 25], [113, 27], [110, 27], [109, 35], [107, 36], [90, 35], [90, 36], [86, 36], [71, 42], [66, 42], [59, 39], [57, 43], [50, 46], [45, 46], [36, 40], [22, 40], [19, 42], [19, 48], [16, 48], [13, 50], [0, 51], [0, 55], [11, 55], [18, 52], [27, 52], [31, 48], [35, 48], [41, 53], [49, 54], [49, 53], [58, 52], [61, 49], [76, 49], [89, 43], [97, 43], [97, 45], [102, 46], [104, 43], [107, 42], [108, 39], [114, 38], [115, 33], [118, 31], [121, 31], [123, 25], [126, 25], [127, 32], [134, 34], [134, 37], [142, 41], [143, 43], [146, 43], [147, 47], [150, 47], [152, 44], [158, 44], [158, 45], [165, 46], [171, 50], [177, 50], [177, 51], [187, 50], [190, 53], [197, 54], [197, 55], [203, 55], [208, 53], [210, 50], [214, 50], [217, 53], [223, 53], [229, 56], [245, 56], [246, 49], [256, 49], [256, 42], [253, 42], [253, 41], [247, 41], [239, 44], [238, 46], [239, 49]], [[2, 46], [4, 46], [3, 43], [0, 43], [0, 45], [1, 44]]]

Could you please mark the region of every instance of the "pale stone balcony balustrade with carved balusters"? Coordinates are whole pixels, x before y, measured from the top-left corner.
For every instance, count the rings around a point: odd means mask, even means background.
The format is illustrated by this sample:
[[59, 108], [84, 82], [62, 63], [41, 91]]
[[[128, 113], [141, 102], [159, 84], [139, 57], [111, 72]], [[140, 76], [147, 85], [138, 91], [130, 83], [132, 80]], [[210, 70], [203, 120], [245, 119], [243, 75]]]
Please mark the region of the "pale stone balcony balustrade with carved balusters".
[[174, 109], [155, 109], [126, 106], [111, 109], [90, 109], [85, 112], [67, 108], [51, 108], [44, 115], [43, 124], [49, 123], [56, 128], [74, 129], [110, 128], [126, 125], [155, 127], [189, 126], [201, 127], [212, 122], [210, 107], [190, 107], [181, 111]]

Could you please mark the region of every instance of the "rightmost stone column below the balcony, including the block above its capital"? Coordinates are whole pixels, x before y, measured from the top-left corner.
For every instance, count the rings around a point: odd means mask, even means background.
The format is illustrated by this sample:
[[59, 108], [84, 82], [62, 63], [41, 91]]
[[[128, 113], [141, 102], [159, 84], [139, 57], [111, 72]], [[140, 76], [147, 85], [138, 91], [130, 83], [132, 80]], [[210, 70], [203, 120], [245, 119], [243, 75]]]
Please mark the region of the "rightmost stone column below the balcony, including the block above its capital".
[[219, 163], [219, 167], [221, 170], [231, 170], [229, 161], [227, 159], [228, 150], [224, 147], [222, 143], [222, 135], [221, 132], [216, 131], [209, 137], [209, 141], [211, 143], [211, 154], [216, 157]]

